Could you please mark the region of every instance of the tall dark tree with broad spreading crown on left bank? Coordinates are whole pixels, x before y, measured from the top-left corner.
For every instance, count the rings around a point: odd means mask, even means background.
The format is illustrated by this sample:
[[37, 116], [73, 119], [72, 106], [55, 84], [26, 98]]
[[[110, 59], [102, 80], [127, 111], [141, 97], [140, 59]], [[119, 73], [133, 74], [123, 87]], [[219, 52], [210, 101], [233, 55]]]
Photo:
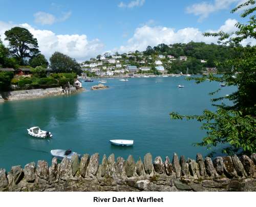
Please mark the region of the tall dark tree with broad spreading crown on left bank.
[[14, 27], [5, 31], [5, 40], [9, 41], [9, 51], [24, 65], [25, 58], [39, 53], [37, 39], [25, 28]]

